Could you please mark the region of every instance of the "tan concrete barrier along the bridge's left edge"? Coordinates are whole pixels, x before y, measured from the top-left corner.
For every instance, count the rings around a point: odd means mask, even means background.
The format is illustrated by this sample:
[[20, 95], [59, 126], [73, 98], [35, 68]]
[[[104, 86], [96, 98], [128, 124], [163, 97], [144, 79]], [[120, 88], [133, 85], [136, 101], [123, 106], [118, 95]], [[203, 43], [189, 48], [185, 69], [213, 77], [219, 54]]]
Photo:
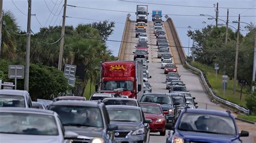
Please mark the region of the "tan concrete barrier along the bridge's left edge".
[[[129, 32], [129, 30], [128, 30], [129, 25], [130, 25], [130, 18], [126, 17], [122, 41], [126, 41], [126, 39], [127, 39], [127, 35], [128, 35], [127, 32]], [[121, 44], [120, 44], [120, 48], [119, 48], [119, 52], [118, 52], [118, 60], [120, 60], [120, 61], [124, 60], [125, 45], [126, 45], [126, 42], [121, 42]]]

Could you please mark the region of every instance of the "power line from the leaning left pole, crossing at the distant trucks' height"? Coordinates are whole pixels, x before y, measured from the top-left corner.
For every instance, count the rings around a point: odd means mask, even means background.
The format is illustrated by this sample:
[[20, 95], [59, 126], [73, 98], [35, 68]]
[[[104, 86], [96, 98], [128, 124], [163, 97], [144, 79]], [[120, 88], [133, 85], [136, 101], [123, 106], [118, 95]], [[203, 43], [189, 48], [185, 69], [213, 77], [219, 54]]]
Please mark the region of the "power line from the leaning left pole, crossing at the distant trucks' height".
[[[110, 10], [110, 9], [98, 9], [98, 8], [89, 8], [85, 6], [77, 6], [77, 5], [69, 5], [73, 8], [83, 8], [83, 9], [91, 9], [91, 10], [102, 10], [102, 11], [113, 11], [113, 12], [125, 12], [125, 13], [135, 13], [134, 11], [122, 11], [122, 10]], [[152, 13], [150, 13], [152, 14]], [[179, 15], [179, 14], [168, 14], [168, 13], [163, 13], [163, 15], [169, 15], [169, 16], [191, 16], [191, 17], [202, 17], [200, 15]], [[219, 16], [219, 17], [226, 17], [226, 16]], [[230, 17], [237, 17], [237, 16], [230, 16]], [[242, 17], [256, 17], [256, 16], [242, 16]]]

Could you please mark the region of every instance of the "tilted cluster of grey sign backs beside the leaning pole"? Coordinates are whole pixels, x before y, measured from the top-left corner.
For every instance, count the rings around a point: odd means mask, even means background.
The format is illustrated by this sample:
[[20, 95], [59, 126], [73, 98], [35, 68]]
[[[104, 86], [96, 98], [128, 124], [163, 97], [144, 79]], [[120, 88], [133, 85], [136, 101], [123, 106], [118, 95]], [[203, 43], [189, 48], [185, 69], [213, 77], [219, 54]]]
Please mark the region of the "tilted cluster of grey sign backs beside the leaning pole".
[[77, 69], [77, 66], [75, 66], [75, 65], [68, 65], [68, 64], [66, 64], [65, 68], [64, 68], [64, 76], [68, 79], [68, 84], [71, 87], [75, 87], [76, 69]]

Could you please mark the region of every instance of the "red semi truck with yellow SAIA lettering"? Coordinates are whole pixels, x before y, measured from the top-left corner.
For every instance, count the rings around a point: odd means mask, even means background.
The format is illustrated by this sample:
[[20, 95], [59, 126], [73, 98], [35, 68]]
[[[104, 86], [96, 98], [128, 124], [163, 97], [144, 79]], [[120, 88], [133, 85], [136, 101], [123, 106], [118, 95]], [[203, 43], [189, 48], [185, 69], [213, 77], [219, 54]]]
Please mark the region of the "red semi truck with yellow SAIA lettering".
[[143, 63], [138, 61], [105, 61], [100, 63], [100, 90], [123, 88], [129, 98], [143, 95]]

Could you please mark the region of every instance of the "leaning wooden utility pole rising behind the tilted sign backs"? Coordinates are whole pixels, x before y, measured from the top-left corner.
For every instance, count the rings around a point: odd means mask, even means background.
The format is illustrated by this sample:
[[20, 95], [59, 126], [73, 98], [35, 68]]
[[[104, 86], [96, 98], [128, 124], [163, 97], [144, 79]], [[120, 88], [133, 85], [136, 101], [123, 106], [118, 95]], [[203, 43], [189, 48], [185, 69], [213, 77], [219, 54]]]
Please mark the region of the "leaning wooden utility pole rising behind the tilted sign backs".
[[64, 36], [65, 36], [65, 20], [66, 20], [66, 1], [64, 2], [64, 10], [62, 16], [62, 34], [60, 40], [60, 47], [59, 47], [59, 62], [58, 62], [58, 70], [62, 70], [62, 56], [63, 56], [63, 46], [64, 46]]

